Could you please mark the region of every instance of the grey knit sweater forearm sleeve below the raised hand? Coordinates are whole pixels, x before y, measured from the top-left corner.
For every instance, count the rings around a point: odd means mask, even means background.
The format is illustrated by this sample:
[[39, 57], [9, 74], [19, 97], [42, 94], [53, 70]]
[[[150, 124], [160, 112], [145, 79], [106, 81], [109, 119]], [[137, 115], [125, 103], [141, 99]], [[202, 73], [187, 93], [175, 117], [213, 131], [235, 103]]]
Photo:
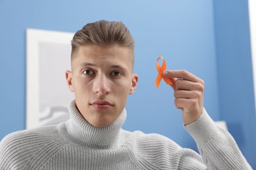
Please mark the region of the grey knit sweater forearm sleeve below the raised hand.
[[252, 169], [234, 138], [217, 127], [205, 109], [200, 118], [185, 129], [196, 141], [207, 169]]

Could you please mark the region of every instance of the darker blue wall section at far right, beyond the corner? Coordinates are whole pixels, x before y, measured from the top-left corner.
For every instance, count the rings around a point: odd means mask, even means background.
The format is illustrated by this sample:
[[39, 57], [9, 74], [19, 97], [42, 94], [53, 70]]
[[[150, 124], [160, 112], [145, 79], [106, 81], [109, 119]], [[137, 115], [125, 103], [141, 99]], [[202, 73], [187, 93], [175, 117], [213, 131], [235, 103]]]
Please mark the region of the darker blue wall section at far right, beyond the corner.
[[220, 118], [256, 167], [256, 124], [247, 1], [214, 1]]

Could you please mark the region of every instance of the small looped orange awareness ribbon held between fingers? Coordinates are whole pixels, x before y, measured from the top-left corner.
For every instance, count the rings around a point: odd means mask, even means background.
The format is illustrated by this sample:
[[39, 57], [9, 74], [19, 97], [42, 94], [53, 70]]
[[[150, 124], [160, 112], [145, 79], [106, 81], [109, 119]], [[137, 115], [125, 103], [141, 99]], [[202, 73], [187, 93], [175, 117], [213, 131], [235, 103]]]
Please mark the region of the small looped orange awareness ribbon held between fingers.
[[[160, 60], [160, 59], [163, 59], [163, 57], [160, 56], [160, 57], [158, 58], [158, 60]], [[156, 69], [158, 69], [158, 76], [156, 77], [156, 82], [155, 82], [156, 87], [158, 88], [158, 86], [159, 86], [159, 84], [160, 84], [160, 82], [161, 82], [161, 78], [163, 78], [163, 80], [165, 80], [165, 82], [166, 82], [167, 84], [173, 85], [173, 82], [171, 82], [171, 80], [170, 80], [169, 78], [164, 77], [164, 76], [162, 75], [163, 71], [165, 71], [165, 69], [166, 69], [165, 59], [163, 59], [163, 64], [161, 65], [161, 67], [160, 67], [160, 65], [159, 65], [159, 63], [158, 63], [158, 60], [156, 60]]]

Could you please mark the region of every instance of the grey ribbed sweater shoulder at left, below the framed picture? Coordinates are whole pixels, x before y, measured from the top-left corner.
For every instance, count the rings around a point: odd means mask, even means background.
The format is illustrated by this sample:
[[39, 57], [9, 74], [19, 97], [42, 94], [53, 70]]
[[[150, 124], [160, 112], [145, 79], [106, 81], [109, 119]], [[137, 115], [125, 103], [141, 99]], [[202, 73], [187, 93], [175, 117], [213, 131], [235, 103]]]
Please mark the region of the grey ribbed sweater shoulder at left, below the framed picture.
[[58, 141], [58, 126], [37, 127], [16, 131], [0, 143], [0, 167], [25, 165], [36, 152], [52, 141]]

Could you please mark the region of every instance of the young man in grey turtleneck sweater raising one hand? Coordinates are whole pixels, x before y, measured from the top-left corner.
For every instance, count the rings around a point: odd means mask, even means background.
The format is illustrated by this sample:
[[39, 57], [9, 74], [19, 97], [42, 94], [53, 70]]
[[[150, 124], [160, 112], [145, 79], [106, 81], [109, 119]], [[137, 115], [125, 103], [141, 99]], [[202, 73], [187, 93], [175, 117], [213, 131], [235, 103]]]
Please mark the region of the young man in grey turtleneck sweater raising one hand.
[[201, 155], [161, 135], [121, 129], [138, 82], [133, 61], [134, 41], [121, 22], [102, 20], [77, 31], [66, 71], [75, 93], [70, 120], [7, 135], [0, 169], [251, 169], [203, 108], [203, 80], [187, 71], [163, 76], [174, 82], [175, 105]]

